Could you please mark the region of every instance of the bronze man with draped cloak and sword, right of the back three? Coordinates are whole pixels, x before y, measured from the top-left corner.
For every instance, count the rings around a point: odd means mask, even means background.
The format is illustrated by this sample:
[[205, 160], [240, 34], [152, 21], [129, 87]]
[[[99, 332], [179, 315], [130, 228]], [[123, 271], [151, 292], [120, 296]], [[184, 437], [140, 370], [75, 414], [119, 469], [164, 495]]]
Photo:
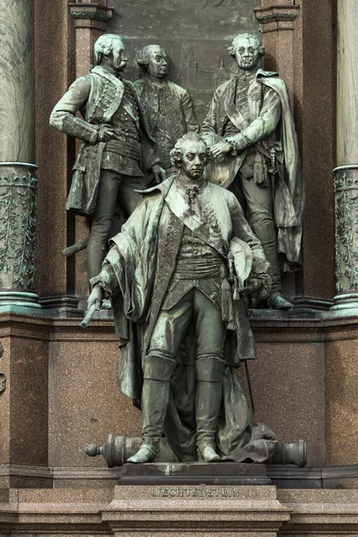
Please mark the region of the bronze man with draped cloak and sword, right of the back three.
[[301, 266], [303, 178], [286, 85], [259, 68], [264, 52], [255, 35], [234, 38], [237, 73], [216, 90], [201, 135], [215, 159], [210, 180], [234, 192], [271, 265], [268, 305], [288, 309], [281, 271]]

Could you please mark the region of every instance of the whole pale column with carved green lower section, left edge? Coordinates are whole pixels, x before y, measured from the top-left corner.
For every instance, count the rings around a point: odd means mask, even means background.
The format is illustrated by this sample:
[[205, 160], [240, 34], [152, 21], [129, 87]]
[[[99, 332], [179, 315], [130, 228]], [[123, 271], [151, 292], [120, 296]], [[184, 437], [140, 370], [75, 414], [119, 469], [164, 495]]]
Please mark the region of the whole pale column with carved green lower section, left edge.
[[33, 0], [0, 0], [0, 311], [40, 308], [36, 239]]

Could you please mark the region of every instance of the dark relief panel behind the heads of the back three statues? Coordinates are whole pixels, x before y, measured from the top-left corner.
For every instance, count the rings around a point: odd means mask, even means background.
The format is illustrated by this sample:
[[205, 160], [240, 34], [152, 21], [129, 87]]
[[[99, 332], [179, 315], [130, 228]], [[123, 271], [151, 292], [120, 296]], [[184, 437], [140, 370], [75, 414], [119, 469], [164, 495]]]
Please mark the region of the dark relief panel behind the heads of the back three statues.
[[137, 52], [158, 44], [169, 56], [170, 80], [188, 90], [201, 122], [217, 86], [234, 72], [227, 47], [240, 31], [260, 29], [253, 8], [260, 0], [112, 0], [107, 31], [119, 33], [129, 57], [125, 78], [135, 81]]

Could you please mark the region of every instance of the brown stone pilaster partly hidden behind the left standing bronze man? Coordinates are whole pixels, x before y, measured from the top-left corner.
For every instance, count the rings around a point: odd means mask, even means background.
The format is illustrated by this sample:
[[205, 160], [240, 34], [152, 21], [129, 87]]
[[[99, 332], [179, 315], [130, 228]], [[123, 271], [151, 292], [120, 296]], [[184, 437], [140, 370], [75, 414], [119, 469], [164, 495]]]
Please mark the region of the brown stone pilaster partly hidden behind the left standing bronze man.
[[[107, 7], [107, 0], [96, 4], [75, 2], [70, 3], [70, 13], [75, 28], [76, 39], [76, 78], [87, 74], [92, 63], [93, 46], [99, 36], [106, 31], [113, 8]], [[77, 143], [77, 150], [80, 147]], [[75, 219], [75, 243], [85, 240], [90, 234], [90, 220], [85, 217]], [[87, 308], [89, 294], [89, 277], [87, 274], [86, 251], [75, 255], [74, 290], [84, 310]]]

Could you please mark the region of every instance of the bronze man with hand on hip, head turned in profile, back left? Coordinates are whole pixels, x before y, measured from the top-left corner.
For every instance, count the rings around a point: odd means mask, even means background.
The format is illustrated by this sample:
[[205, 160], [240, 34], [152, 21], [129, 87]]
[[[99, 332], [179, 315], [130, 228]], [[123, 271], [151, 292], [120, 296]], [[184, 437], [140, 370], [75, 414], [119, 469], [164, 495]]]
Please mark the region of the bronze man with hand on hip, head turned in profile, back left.
[[[140, 200], [135, 191], [145, 188], [150, 170], [157, 182], [165, 178], [148, 115], [132, 83], [121, 75], [127, 63], [122, 38], [101, 36], [94, 56], [90, 73], [73, 82], [50, 118], [50, 124], [82, 141], [66, 209], [91, 216], [90, 277], [98, 274], [106, 255], [116, 211], [132, 214]], [[82, 118], [75, 115], [78, 111]]]

